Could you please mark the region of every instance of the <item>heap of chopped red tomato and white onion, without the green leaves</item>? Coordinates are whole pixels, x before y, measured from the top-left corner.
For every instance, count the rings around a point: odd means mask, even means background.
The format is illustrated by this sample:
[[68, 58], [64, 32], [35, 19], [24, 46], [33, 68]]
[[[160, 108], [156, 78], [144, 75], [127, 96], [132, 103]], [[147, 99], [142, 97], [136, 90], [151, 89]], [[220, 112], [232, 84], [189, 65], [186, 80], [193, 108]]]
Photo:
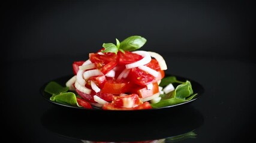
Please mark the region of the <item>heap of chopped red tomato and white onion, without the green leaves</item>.
[[[146, 51], [144, 51], [146, 52]], [[144, 69], [127, 68], [128, 64], [144, 60], [135, 52], [95, 52], [86, 61], [74, 61], [76, 82], [73, 88], [84, 100], [104, 110], [140, 110], [151, 108], [149, 97], [159, 94], [159, 81], [164, 70], [155, 58], [144, 64]], [[97, 99], [95, 101], [95, 96]]]

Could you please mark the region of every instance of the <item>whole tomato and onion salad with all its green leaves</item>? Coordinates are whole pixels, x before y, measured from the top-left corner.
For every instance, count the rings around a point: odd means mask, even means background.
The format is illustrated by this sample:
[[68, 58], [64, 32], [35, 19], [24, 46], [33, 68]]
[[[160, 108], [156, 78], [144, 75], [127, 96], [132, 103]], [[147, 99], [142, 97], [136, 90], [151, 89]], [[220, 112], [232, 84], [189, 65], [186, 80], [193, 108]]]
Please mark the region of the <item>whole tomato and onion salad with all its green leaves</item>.
[[130, 36], [116, 39], [116, 44], [103, 43], [85, 60], [73, 62], [73, 77], [65, 86], [52, 81], [44, 91], [54, 102], [103, 110], [145, 110], [195, 97], [189, 80], [165, 76], [167, 64], [160, 54], [138, 50], [146, 41]]

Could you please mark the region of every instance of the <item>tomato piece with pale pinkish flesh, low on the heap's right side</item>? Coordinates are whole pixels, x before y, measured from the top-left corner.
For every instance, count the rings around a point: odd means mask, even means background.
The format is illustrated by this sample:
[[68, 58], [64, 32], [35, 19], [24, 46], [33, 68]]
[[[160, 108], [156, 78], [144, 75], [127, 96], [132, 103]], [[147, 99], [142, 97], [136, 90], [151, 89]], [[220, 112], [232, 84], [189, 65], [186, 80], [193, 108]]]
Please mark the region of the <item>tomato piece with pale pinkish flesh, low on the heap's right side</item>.
[[129, 93], [137, 94], [140, 98], [150, 97], [156, 93], [159, 92], [159, 86], [158, 83], [154, 82], [152, 83], [152, 89], [147, 89], [147, 86], [137, 86], [132, 88]]

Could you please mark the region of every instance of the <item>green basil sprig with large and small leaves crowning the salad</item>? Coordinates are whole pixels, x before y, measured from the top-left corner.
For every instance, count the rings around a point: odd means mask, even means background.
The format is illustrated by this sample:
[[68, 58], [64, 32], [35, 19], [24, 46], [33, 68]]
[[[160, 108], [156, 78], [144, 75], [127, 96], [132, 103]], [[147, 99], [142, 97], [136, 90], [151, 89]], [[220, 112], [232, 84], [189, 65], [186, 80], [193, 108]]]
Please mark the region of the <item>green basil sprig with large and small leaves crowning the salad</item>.
[[118, 51], [135, 51], [141, 48], [146, 42], [147, 40], [141, 36], [129, 36], [122, 42], [116, 39], [116, 45], [114, 43], [103, 43], [105, 49], [101, 52], [115, 52], [117, 54]]

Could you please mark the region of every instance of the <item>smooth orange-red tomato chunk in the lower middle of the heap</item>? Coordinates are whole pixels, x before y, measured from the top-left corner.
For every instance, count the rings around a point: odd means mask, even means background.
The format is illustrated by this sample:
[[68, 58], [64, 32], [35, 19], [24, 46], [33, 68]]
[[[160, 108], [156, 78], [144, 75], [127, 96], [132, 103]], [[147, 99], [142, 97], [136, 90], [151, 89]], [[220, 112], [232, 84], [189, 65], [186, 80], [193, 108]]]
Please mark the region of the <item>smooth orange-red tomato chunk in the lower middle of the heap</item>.
[[131, 87], [131, 83], [124, 79], [107, 80], [103, 86], [103, 89], [101, 89], [101, 92], [119, 95], [128, 92]]

